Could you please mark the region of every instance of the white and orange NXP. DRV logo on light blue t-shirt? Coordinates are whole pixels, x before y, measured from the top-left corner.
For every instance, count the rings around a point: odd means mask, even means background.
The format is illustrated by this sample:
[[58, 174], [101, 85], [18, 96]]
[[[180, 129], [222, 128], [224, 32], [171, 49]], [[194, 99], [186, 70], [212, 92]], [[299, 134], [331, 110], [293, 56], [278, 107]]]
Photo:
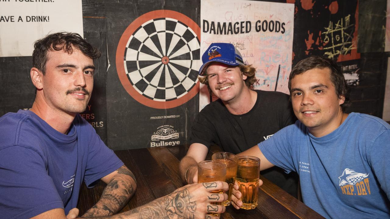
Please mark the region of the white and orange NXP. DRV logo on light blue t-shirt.
[[371, 194], [368, 175], [369, 173], [358, 173], [346, 168], [339, 177], [342, 194], [358, 196]]

